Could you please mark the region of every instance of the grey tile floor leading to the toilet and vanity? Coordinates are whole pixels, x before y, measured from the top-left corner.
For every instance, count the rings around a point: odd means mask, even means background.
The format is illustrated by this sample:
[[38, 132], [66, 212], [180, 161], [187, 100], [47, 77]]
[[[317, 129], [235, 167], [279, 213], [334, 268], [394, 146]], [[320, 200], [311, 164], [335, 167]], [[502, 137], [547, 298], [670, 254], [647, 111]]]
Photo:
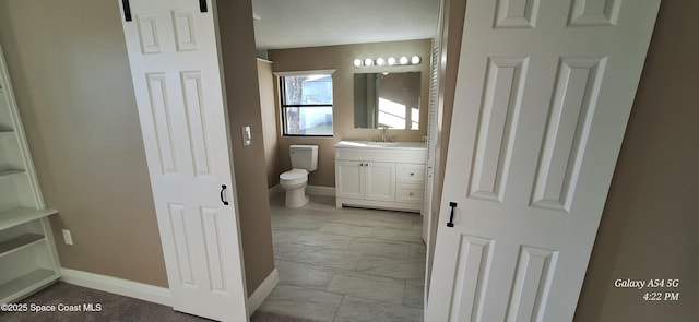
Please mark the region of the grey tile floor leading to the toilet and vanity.
[[260, 310], [315, 321], [423, 321], [425, 245], [414, 213], [271, 200], [280, 283]]

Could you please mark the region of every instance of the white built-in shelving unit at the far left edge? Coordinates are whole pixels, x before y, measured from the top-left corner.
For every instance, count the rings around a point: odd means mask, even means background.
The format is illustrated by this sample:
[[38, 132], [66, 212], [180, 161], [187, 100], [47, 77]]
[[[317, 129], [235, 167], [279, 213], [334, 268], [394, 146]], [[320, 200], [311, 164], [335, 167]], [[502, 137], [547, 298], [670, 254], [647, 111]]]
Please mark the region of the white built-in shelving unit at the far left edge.
[[0, 50], [0, 303], [60, 277], [56, 246]]

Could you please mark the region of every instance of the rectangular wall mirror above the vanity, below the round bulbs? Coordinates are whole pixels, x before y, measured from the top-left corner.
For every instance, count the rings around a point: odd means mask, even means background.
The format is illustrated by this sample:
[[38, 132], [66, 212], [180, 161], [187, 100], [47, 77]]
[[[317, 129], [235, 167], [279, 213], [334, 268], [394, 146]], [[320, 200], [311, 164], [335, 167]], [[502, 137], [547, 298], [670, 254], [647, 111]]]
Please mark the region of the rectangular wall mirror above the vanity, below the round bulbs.
[[354, 127], [419, 129], [419, 72], [354, 74]]

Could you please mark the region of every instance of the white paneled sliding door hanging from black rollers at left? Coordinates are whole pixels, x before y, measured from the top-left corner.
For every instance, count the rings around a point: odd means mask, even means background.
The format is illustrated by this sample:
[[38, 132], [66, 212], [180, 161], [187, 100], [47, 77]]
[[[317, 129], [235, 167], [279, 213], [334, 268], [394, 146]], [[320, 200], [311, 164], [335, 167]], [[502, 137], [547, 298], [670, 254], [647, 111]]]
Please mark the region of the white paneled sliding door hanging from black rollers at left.
[[175, 310], [247, 321], [230, 147], [211, 0], [122, 0]]

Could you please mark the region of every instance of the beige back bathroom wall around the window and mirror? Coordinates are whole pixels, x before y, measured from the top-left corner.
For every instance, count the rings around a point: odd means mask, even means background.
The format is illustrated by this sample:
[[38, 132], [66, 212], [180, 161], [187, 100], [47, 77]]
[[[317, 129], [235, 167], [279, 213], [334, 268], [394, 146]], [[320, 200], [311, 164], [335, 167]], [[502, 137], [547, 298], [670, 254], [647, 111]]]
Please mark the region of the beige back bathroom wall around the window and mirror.
[[[396, 141], [422, 141], [427, 133], [427, 106], [429, 97], [429, 57], [431, 39], [357, 44], [328, 47], [270, 50], [275, 72], [335, 69], [333, 74], [333, 138], [279, 136], [279, 165], [276, 176], [292, 168], [288, 146], [292, 144], [317, 144], [319, 147], [318, 170], [311, 172], [308, 184], [335, 187], [335, 165], [333, 145], [341, 140], [371, 140], [378, 134], [375, 129], [354, 128], [354, 73], [379, 71], [420, 71], [422, 100], [420, 129], [389, 130]], [[418, 55], [423, 62], [417, 67], [366, 68], [353, 65], [355, 58], [400, 57]], [[279, 102], [279, 100], [276, 100]], [[279, 182], [279, 179], [277, 179]]]

